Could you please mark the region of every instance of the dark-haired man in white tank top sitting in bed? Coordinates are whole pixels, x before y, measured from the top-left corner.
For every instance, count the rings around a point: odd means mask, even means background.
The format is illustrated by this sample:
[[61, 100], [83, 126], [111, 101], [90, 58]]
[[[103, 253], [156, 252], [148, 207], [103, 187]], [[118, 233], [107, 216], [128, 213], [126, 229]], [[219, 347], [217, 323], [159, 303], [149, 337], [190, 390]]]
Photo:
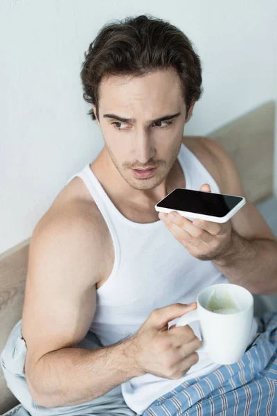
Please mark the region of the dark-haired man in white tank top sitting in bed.
[[275, 315], [233, 366], [197, 354], [197, 325], [168, 330], [211, 284], [277, 292], [277, 243], [249, 200], [225, 224], [154, 209], [177, 187], [244, 195], [219, 144], [183, 137], [202, 84], [190, 41], [161, 19], [110, 24], [81, 76], [105, 147], [33, 232], [22, 329], [1, 357], [22, 414], [273, 415]]

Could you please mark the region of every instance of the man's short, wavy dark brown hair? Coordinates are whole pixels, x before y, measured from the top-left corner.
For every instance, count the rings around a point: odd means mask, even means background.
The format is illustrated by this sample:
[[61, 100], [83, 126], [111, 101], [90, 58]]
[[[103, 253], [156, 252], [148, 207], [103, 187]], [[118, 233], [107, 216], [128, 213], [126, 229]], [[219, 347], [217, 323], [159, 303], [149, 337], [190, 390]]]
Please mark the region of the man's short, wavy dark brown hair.
[[[84, 100], [96, 106], [99, 119], [99, 85], [104, 76], [132, 75], [174, 67], [181, 81], [186, 110], [202, 95], [199, 55], [188, 37], [167, 21], [141, 15], [108, 23], [84, 53], [80, 73]], [[89, 115], [95, 120], [93, 108]]]

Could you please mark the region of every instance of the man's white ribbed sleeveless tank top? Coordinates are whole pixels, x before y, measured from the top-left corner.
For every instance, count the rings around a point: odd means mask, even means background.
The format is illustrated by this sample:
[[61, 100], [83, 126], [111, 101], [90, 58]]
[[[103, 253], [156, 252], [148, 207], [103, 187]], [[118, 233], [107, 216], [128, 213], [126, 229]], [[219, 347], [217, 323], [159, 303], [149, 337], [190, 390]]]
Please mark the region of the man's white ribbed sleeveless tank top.
[[[199, 191], [204, 183], [211, 191], [220, 189], [197, 157], [181, 146], [178, 160], [186, 178], [186, 188]], [[111, 275], [97, 290], [96, 313], [91, 331], [102, 345], [111, 345], [138, 331], [153, 309], [177, 302], [195, 302], [202, 288], [229, 280], [212, 261], [193, 257], [170, 233], [161, 220], [134, 223], [111, 202], [88, 165], [73, 177], [81, 177], [105, 219], [114, 243], [115, 260]], [[172, 320], [174, 324], [177, 320]], [[201, 338], [198, 322], [190, 327]], [[256, 336], [253, 320], [251, 339]], [[184, 381], [208, 374], [220, 367], [204, 352], [199, 361], [181, 379], [170, 380], [153, 374], [137, 376], [122, 384], [123, 397], [129, 408], [141, 415], [152, 402]]]

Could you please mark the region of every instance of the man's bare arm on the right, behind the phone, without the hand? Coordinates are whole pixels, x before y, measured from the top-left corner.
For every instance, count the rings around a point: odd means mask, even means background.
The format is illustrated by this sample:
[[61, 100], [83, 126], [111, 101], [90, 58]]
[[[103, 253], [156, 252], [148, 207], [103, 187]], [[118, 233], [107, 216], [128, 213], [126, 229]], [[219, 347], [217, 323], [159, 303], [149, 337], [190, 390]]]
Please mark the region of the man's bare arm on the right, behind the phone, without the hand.
[[246, 198], [246, 204], [231, 218], [231, 244], [222, 256], [213, 261], [230, 279], [251, 293], [277, 293], [277, 240], [258, 209], [244, 193], [237, 166], [229, 154], [213, 140], [206, 141], [216, 157], [220, 172], [220, 191]]

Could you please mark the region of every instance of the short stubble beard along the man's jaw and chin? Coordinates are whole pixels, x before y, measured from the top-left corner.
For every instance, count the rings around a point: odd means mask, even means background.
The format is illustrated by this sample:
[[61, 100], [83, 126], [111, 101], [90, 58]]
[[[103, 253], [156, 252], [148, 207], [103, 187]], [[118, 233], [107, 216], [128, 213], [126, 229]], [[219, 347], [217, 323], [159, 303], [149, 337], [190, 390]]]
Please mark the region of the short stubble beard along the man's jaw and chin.
[[[132, 166], [128, 167], [129, 166], [128, 162], [125, 162], [123, 166], [120, 166], [116, 160], [116, 157], [114, 156], [114, 153], [112, 153], [111, 149], [109, 148], [109, 146], [107, 146], [107, 144], [106, 144], [106, 147], [109, 153], [109, 157], [111, 157], [111, 161], [114, 163], [114, 166], [116, 166], [117, 171], [120, 173], [121, 177], [123, 177], [125, 182], [127, 182], [127, 184], [129, 184], [129, 186], [134, 189], [145, 191], [148, 189], [153, 189], [153, 188], [158, 187], [159, 184], [161, 184], [161, 182], [163, 182], [163, 180], [166, 179], [172, 166], [175, 164], [177, 156], [179, 155], [179, 151], [181, 148], [181, 141], [175, 148], [173, 148], [172, 155], [170, 157], [170, 161], [168, 162], [168, 164], [166, 164], [164, 160], [159, 160], [158, 163], [155, 164], [155, 166], [157, 166], [158, 168], [164, 168], [164, 170], [160, 173], [160, 175], [157, 177], [157, 174], [156, 174], [154, 175], [154, 177], [150, 177], [149, 179], [143, 179], [143, 180], [136, 179], [134, 176], [132, 176], [133, 174], [130, 169], [132, 168]], [[129, 175], [125, 173], [129, 173]]]

